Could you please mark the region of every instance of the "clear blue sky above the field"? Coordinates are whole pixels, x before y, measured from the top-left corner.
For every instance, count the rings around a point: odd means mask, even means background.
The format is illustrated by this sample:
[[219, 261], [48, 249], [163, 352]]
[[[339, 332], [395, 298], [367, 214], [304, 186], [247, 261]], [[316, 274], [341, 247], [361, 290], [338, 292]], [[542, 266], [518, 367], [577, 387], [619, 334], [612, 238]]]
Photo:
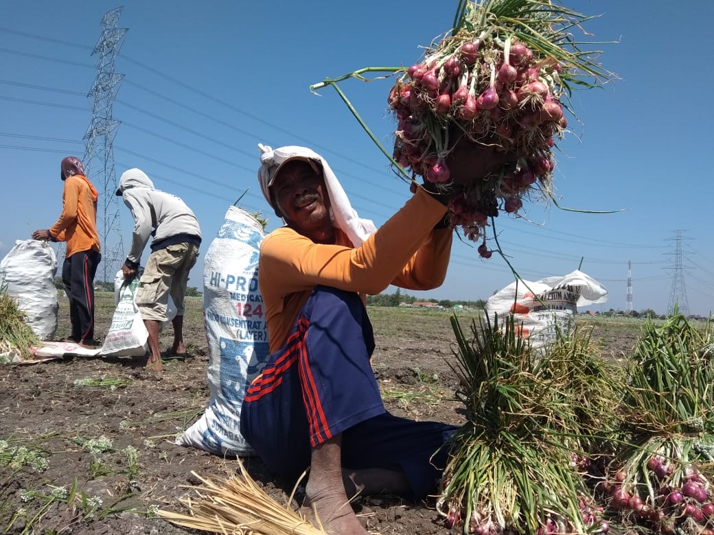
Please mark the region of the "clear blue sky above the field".
[[[602, 15], [585, 25], [589, 39], [618, 42], [587, 48], [603, 50], [601, 63], [620, 80], [575, 92], [581, 123], [570, 117], [572, 132], [559, 144], [556, 193], [569, 208], [627, 210], [573, 213], [533, 200], [527, 220], [498, 218], [501, 245], [526, 280], [565, 275], [582, 258], [581, 269], [609, 290], [608, 302], [593, 310], [625, 308], [631, 262], [634, 309], [663, 313], [679, 244], [689, 312], [708, 315], [714, 194], [703, 140], [714, 116], [708, 94], [714, 4], [691, 1], [682, 14], [662, 0], [648, 2], [646, 11], [623, 0], [566, 4]], [[157, 188], [186, 200], [201, 223], [204, 251], [246, 190], [239, 205], [268, 215], [268, 230], [280, 224], [256, 183], [257, 143], [321, 153], [354, 208], [377, 225], [408, 198], [408, 186], [337, 93], [326, 88], [316, 96], [308, 86], [367, 66], [410, 65], [419, 45], [451, 27], [456, 0], [3, 2], [0, 257], [60, 213], [59, 162], [84, 154], [91, 118], [91, 49], [101, 17], [122, 5], [119, 26], [129, 31], [115, 64], [125, 75], [114, 102], [121, 121], [116, 177], [139, 167]], [[386, 113], [390, 87], [390, 80], [341, 83], [386, 147], [395, 126]], [[126, 244], [131, 215], [123, 203], [115, 206]], [[476, 248], [457, 240], [445, 284], [411, 293], [486, 299], [512, 280], [497, 255], [481, 260]], [[201, 262], [189, 285], [202, 286]]]

